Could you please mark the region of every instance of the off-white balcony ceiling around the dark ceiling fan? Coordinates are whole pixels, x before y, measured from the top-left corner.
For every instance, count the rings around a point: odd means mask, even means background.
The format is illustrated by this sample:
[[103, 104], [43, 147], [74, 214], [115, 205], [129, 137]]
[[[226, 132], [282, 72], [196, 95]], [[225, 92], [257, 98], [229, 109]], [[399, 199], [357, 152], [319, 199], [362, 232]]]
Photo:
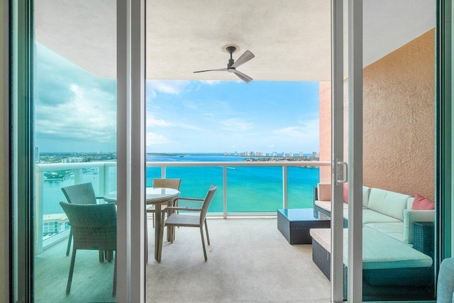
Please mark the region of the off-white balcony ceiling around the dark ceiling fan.
[[[258, 80], [330, 80], [329, 0], [148, 0], [148, 79], [238, 79], [226, 45], [255, 58], [238, 68]], [[434, 0], [365, 0], [364, 66], [435, 26]], [[35, 1], [39, 43], [101, 78], [116, 77], [116, 1]]]

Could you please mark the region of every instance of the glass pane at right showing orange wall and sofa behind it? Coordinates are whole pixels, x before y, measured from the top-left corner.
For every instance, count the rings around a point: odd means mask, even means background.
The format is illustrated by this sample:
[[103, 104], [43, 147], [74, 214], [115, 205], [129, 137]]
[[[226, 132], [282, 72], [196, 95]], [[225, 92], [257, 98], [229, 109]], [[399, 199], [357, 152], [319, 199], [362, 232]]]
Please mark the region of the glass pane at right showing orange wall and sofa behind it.
[[364, 301], [434, 297], [435, 11], [363, 6]]

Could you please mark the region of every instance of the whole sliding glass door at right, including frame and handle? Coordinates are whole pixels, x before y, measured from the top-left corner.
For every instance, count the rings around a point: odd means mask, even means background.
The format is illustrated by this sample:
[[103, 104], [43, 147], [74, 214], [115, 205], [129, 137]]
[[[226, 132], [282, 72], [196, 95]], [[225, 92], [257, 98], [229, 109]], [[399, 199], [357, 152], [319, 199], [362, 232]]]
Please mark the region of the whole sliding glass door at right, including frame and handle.
[[435, 12], [333, 1], [334, 302], [435, 297]]

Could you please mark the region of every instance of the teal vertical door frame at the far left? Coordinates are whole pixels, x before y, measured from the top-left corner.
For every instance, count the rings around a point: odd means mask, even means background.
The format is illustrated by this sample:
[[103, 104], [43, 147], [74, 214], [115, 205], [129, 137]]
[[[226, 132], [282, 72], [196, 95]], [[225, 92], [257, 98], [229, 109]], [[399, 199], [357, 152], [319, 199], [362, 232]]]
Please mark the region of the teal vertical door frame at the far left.
[[[33, 301], [33, 1], [10, 1], [11, 299]], [[11, 235], [11, 232], [10, 232]], [[15, 287], [13, 286], [15, 285]]]

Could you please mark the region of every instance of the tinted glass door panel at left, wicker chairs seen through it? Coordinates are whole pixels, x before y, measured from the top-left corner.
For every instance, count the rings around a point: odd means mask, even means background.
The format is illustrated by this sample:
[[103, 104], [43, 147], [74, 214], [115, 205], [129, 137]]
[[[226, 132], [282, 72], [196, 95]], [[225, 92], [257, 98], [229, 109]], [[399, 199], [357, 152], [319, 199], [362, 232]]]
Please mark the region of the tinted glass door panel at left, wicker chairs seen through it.
[[84, 238], [60, 202], [96, 214], [116, 191], [116, 1], [36, 1], [33, 18], [35, 302], [112, 302], [116, 230]]

